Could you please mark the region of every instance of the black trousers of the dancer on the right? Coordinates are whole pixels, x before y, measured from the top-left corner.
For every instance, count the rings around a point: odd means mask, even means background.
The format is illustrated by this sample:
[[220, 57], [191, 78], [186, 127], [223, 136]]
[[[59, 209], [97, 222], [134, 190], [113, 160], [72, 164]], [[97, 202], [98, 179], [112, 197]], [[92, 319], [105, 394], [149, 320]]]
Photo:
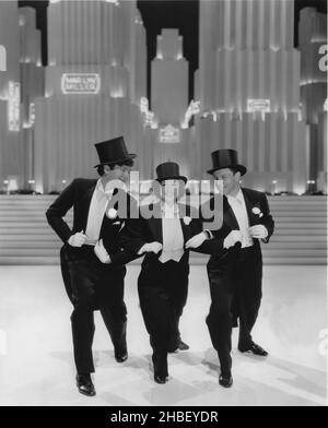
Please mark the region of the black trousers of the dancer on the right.
[[208, 275], [211, 307], [207, 324], [221, 371], [230, 374], [233, 320], [239, 319], [238, 348], [246, 349], [251, 343], [251, 330], [258, 317], [262, 296], [259, 248], [242, 249], [227, 260], [212, 258], [208, 263]]

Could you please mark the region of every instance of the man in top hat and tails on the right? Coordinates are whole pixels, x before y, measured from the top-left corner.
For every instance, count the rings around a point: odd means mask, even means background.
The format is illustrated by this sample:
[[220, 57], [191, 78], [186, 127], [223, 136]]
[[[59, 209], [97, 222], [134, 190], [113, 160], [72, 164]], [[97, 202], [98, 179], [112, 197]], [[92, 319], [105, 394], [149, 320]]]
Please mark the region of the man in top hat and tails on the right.
[[[208, 173], [223, 181], [224, 197], [222, 227], [212, 230], [213, 239], [210, 242], [213, 255], [208, 262], [211, 308], [207, 324], [221, 364], [220, 384], [229, 388], [233, 383], [232, 326], [237, 325], [237, 319], [238, 349], [259, 356], [268, 355], [253, 342], [251, 329], [262, 295], [260, 240], [269, 242], [274, 222], [266, 194], [241, 188], [239, 180], [246, 174], [246, 167], [238, 163], [236, 151], [218, 150], [212, 153], [212, 163], [213, 168]], [[213, 199], [209, 203], [212, 205]]]

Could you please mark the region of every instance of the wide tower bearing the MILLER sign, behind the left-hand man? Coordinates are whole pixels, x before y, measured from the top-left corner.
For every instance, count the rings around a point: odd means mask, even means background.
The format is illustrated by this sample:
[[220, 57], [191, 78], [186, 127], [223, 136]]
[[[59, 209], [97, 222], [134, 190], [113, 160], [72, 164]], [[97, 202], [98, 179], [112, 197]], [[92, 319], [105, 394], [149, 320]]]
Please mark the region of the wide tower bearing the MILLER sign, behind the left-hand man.
[[[136, 1], [51, 1], [45, 98], [35, 106], [37, 190], [96, 177], [96, 142], [122, 134], [129, 151], [141, 153], [145, 86], [145, 32]], [[147, 174], [142, 156], [138, 163]]]

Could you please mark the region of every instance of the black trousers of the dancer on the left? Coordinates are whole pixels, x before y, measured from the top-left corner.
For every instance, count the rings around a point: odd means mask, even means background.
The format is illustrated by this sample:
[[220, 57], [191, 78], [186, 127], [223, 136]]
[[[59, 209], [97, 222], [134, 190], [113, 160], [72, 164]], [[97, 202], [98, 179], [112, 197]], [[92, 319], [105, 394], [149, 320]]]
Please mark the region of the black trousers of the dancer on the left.
[[125, 266], [98, 261], [93, 247], [62, 250], [62, 271], [68, 275], [74, 305], [71, 314], [74, 361], [79, 373], [94, 372], [92, 343], [95, 309], [99, 309], [115, 352], [126, 348], [127, 308], [124, 301]]

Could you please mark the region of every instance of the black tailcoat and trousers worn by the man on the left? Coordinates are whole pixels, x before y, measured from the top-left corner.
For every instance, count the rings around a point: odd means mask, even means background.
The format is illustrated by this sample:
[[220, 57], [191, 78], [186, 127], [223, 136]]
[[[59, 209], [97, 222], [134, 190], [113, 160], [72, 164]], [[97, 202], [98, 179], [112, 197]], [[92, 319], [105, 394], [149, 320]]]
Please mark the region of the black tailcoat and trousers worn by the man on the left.
[[[92, 246], [71, 247], [68, 239], [86, 229], [87, 216], [97, 180], [74, 179], [46, 212], [49, 225], [65, 242], [60, 251], [61, 272], [67, 294], [74, 305], [71, 316], [74, 359], [78, 372], [93, 372], [92, 341], [94, 334], [93, 311], [99, 309], [112, 337], [116, 355], [126, 350], [127, 309], [124, 301], [125, 263], [134, 254], [119, 246], [118, 234], [126, 218], [104, 215], [99, 238], [103, 239], [110, 263], [102, 263]], [[118, 190], [122, 192], [122, 190]], [[125, 193], [127, 201], [133, 203]], [[129, 206], [129, 205], [128, 205]], [[73, 207], [72, 229], [65, 222]], [[114, 207], [117, 207], [117, 205]]]

